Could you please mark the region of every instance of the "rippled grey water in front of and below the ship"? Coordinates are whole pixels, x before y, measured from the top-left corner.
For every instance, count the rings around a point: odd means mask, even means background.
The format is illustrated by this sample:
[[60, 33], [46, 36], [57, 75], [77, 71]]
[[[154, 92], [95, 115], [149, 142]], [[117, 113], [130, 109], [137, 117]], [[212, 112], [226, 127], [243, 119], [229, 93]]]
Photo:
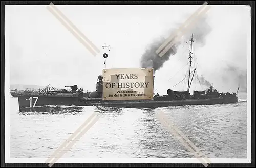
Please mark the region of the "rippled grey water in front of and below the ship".
[[[246, 100], [246, 94], [239, 94]], [[49, 157], [95, 111], [99, 121], [63, 157], [195, 157], [168, 132], [163, 111], [209, 158], [246, 158], [247, 103], [156, 109], [42, 107], [18, 111], [11, 98], [10, 157]]]

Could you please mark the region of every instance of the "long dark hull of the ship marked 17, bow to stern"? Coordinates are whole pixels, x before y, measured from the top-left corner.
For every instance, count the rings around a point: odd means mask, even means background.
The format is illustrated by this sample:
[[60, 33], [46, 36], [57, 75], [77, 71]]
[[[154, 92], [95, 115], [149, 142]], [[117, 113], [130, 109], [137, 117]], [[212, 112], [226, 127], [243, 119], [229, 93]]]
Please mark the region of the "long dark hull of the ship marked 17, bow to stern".
[[211, 98], [211, 99], [186, 99], [186, 100], [140, 100], [140, 101], [103, 101], [102, 99], [88, 99], [81, 97], [61, 96], [30, 96], [18, 97], [19, 109], [34, 108], [38, 106], [66, 105], [66, 106], [97, 106], [120, 108], [157, 108], [185, 105], [213, 105], [238, 102], [237, 97]]

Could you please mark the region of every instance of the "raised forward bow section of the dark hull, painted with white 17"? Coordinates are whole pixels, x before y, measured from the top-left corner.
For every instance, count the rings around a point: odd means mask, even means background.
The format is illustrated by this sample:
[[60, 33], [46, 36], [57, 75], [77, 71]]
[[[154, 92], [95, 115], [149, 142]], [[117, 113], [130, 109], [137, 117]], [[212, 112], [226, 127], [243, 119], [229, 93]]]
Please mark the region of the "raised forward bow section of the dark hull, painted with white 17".
[[82, 103], [78, 101], [78, 99], [79, 99], [78, 97], [23, 95], [23, 96], [18, 96], [18, 105], [19, 105], [19, 109], [34, 108], [38, 106], [50, 106], [50, 105], [80, 106], [82, 105]]

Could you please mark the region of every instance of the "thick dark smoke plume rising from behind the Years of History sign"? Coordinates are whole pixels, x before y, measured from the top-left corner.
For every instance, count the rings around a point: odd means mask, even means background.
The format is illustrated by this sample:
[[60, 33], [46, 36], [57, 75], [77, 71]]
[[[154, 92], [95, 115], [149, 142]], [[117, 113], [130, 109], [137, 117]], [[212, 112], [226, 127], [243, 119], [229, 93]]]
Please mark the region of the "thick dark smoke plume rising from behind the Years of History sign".
[[[181, 24], [179, 24], [179, 26], [181, 26]], [[200, 18], [198, 18], [197, 22], [195, 22], [195, 25], [190, 30], [188, 30], [186, 34], [184, 34], [183, 38], [189, 40], [191, 38], [191, 34], [193, 33], [193, 36], [194, 38], [196, 38], [197, 43], [201, 44], [201, 46], [204, 46], [206, 36], [210, 32], [211, 27], [206, 22], [206, 16], [201, 16]], [[162, 57], [159, 57], [159, 55], [156, 53], [156, 50], [162, 45], [164, 41], [165, 38], [160, 37], [158, 39], [155, 39], [153, 42], [151, 42], [150, 45], [148, 45], [140, 60], [140, 65], [142, 68], [153, 68], [155, 72], [163, 67], [163, 64], [169, 60], [170, 56], [177, 53], [178, 47], [181, 44], [181, 40], [177, 40], [173, 47], [170, 47], [170, 49]]]

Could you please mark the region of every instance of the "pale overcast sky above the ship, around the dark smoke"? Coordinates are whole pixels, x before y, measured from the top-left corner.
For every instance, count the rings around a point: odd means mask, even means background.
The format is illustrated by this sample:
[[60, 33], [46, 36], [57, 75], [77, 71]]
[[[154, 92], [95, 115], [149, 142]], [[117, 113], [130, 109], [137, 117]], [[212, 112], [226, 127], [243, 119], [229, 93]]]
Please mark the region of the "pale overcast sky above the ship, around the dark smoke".
[[[9, 53], [6, 57], [10, 59], [11, 84], [51, 84], [57, 88], [76, 84], [84, 90], [94, 91], [97, 77], [104, 68], [101, 45], [106, 43], [112, 47], [108, 51], [106, 68], [139, 68], [148, 44], [161, 35], [168, 37], [170, 29], [178, 28], [199, 8], [163, 5], [56, 7], [101, 53], [93, 56], [46, 6], [6, 6], [6, 50]], [[211, 6], [207, 23], [211, 31], [205, 37], [205, 45], [195, 45], [193, 50], [198, 76], [203, 75], [224, 92], [235, 92], [239, 82], [246, 87], [241, 80], [246, 80], [250, 7]], [[166, 94], [168, 88], [184, 78], [187, 68], [180, 74], [177, 71], [188, 61], [189, 45], [185, 40], [189, 39], [182, 39], [177, 54], [156, 71], [154, 88], [160, 94]], [[174, 89], [181, 91], [183, 86]]]

